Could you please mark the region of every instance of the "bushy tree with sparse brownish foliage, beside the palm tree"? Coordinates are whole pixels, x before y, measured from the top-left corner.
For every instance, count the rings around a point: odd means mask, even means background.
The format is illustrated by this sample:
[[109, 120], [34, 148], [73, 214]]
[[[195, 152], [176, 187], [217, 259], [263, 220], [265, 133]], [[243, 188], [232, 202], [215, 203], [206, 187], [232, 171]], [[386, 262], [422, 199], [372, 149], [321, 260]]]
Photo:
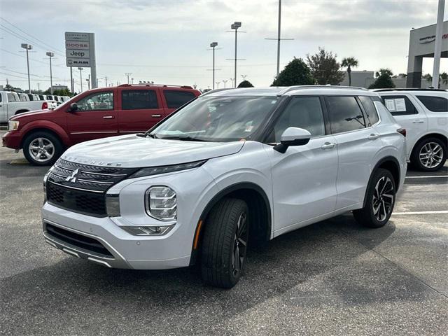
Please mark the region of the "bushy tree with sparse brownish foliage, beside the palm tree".
[[320, 85], [339, 85], [344, 80], [344, 73], [340, 71], [340, 64], [336, 60], [337, 55], [331, 51], [325, 51], [319, 47], [314, 55], [307, 55], [308, 66], [311, 74]]

